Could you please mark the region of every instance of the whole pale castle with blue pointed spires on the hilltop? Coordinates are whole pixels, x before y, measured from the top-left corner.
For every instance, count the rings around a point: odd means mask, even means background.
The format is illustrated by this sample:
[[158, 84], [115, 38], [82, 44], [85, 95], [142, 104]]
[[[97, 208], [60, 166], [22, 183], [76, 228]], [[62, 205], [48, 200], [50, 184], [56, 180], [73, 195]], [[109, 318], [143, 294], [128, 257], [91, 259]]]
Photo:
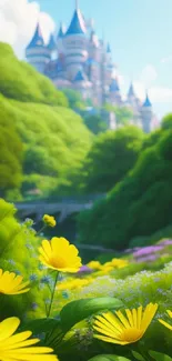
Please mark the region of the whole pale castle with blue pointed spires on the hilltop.
[[[82, 98], [91, 99], [95, 107], [110, 103], [132, 110], [132, 123], [150, 132], [153, 126], [152, 104], [146, 93], [142, 103], [131, 83], [127, 99], [120, 91], [115, 66], [109, 43], [100, 40], [92, 26], [87, 24], [75, 3], [71, 23], [67, 30], [60, 26], [57, 37], [51, 34], [45, 44], [40, 24], [26, 49], [26, 59], [39, 72], [50, 78], [58, 89], [73, 89]], [[114, 128], [114, 124], [110, 128]]]

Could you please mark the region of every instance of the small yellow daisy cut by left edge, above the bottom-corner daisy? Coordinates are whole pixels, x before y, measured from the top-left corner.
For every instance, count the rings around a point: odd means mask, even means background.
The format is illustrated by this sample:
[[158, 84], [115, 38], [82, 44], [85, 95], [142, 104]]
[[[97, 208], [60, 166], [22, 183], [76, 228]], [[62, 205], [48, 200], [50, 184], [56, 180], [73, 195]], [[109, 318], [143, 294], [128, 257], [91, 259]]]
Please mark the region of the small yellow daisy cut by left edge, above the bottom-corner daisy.
[[29, 284], [29, 281], [22, 283], [22, 275], [17, 275], [9, 271], [3, 272], [0, 269], [0, 293], [20, 294], [28, 292], [30, 289], [26, 287]]

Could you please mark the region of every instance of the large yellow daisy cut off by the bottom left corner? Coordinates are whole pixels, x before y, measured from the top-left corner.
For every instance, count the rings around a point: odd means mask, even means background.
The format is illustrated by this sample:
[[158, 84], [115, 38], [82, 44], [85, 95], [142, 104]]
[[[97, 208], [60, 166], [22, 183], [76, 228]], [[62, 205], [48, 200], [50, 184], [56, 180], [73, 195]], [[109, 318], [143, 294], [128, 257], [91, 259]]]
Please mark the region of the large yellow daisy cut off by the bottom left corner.
[[57, 361], [50, 348], [30, 347], [39, 339], [29, 339], [30, 331], [13, 334], [20, 324], [18, 318], [9, 318], [0, 322], [0, 360], [1, 361]]

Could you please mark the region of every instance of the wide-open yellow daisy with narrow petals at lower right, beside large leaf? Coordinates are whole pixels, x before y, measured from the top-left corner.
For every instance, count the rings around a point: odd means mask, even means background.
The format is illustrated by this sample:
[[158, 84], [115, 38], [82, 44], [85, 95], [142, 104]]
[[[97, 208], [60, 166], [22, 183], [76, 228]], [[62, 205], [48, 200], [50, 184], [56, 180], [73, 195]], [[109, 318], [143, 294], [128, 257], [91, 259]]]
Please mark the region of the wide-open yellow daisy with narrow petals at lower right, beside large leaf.
[[150, 325], [158, 304], [149, 303], [143, 312], [142, 305], [136, 310], [125, 310], [127, 317], [121, 311], [97, 315], [93, 329], [101, 334], [94, 334], [94, 338], [105, 342], [128, 344], [139, 341], [148, 327]]

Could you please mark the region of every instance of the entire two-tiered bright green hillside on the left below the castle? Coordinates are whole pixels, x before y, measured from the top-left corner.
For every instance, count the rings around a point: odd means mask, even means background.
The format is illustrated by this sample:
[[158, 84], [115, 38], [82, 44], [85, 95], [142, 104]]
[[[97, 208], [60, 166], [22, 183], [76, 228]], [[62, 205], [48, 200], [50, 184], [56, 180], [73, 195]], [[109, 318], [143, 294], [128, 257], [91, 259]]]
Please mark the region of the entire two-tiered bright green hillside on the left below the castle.
[[23, 144], [22, 190], [47, 194], [78, 169], [92, 134], [51, 81], [19, 61], [9, 46], [0, 43], [0, 126], [10, 122]]

